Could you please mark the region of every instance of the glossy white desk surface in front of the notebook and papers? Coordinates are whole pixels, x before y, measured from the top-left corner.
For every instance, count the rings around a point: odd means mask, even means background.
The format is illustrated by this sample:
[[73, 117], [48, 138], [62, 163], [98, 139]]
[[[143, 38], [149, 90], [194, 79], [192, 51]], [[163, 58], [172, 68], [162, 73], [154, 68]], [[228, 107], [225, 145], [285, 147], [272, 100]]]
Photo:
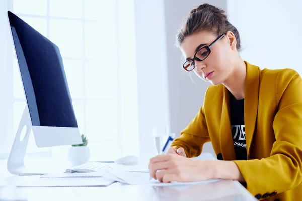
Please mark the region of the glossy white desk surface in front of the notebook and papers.
[[0, 200], [257, 200], [239, 182], [231, 180], [182, 189], [121, 183], [108, 187], [16, 188], [11, 181], [20, 176], [11, 175], [4, 160], [0, 161], [0, 173], [0, 186], [11, 184], [0, 187]]

